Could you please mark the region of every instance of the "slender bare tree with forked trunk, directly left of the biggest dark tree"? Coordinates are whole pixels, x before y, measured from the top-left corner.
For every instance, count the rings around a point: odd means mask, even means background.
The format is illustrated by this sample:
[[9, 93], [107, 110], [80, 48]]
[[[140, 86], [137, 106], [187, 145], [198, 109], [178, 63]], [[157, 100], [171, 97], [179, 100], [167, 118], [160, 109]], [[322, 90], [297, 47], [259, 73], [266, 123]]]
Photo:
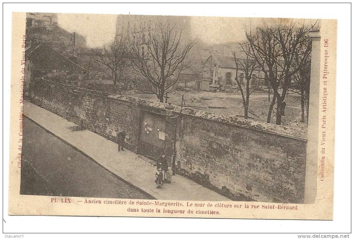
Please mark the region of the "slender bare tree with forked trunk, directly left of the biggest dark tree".
[[[253, 88], [250, 86], [250, 82], [252, 80], [253, 72], [257, 68], [257, 62], [254, 57], [251, 56], [251, 45], [249, 42], [244, 44], [239, 44], [241, 47], [242, 57], [237, 57], [236, 51], [232, 51], [234, 56], [234, 61], [236, 64], [236, 77], [235, 80], [239, 86], [239, 90], [242, 96], [242, 103], [244, 107], [244, 117], [245, 119], [248, 118], [248, 110], [249, 110], [249, 103], [250, 103], [250, 95], [253, 92]], [[245, 74], [245, 89], [242, 86], [242, 79], [239, 79], [238, 71], [242, 70]], [[253, 89], [253, 90], [252, 90]]]

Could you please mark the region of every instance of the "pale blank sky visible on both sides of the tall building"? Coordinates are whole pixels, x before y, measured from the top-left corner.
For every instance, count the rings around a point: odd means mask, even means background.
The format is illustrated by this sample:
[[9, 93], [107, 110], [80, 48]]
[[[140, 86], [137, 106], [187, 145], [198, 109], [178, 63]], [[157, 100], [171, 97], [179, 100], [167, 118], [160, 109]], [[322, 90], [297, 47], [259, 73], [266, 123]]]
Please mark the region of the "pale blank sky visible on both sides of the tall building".
[[[286, 18], [235, 18], [191, 17], [193, 38], [206, 44], [225, 44], [246, 40], [245, 30], [272, 23], [289, 24]], [[309, 24], [313, 19], [300, 19], [299, 24]], [[59, 13], [58, 24], [69, 32], [77, 32], [86, 38], [90, 47], [104, 46], [114, 40], [116, 15]]]

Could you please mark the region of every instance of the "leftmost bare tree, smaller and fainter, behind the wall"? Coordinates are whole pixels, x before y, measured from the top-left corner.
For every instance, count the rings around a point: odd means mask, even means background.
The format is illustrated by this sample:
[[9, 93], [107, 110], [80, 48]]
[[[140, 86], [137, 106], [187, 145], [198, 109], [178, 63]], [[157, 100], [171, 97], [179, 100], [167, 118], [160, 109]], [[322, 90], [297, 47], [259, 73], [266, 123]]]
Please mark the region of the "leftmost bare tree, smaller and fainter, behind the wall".
[[99, 63], [92, 64], [91, 67], [94, 67], [96, 72], [107, 76], [108, 79], [112, 79], [114, 93], [121, 93], [121, 88], [124, 86], [122, 81], [129, 63], [126, 44], [126, 38], [116, 38], [107, 47], [91, 49], [91, 52], [87, 54], [93, 61]]

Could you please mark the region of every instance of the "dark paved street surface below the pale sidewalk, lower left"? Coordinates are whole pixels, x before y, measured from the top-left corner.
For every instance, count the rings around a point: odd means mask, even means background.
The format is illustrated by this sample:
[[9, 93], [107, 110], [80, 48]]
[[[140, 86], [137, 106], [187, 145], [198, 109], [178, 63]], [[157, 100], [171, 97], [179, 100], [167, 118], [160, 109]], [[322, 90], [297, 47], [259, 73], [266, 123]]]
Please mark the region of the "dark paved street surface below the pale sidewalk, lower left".
[[21, 194], [153, 199], [24, 118]]

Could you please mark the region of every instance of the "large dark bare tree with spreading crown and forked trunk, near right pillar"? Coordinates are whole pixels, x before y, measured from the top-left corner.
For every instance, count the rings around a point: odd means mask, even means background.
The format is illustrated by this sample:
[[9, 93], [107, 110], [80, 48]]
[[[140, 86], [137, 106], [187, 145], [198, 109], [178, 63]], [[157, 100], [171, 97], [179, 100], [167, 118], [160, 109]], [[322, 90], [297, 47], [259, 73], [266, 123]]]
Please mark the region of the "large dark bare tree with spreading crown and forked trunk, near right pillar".
[[294, 25], [257, 28], [255, 33], [251, 31], [246, 33], [251, 45], [252, 57], [273, 89], [268, 123], [276, 103], [276, 124], [281, 124], [281, 116], [284, 115], [286, 105], [284, 101], [286, 92], [291, 85], [293, 75], [303, 66], [303, 61], [299, 62], [297, 67], [293, 67], [293, 64], [306, 33], [303, 26], [297, 28]]

